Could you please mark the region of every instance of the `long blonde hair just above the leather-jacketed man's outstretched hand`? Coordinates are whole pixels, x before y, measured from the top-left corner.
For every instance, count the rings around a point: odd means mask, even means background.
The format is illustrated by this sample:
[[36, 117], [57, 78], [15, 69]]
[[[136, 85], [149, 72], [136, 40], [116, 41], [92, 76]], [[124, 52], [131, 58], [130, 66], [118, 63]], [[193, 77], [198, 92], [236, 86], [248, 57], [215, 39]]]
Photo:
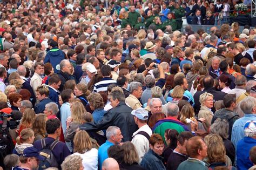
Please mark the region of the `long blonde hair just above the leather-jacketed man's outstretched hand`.
[[79, 101], [75, 101], [72, 103], [71, 109], [72, 109], [72, 112], [71, 112], [72, 120], [76, 123], [82, 124], [83, 115], [86, 113], [84, 105]]

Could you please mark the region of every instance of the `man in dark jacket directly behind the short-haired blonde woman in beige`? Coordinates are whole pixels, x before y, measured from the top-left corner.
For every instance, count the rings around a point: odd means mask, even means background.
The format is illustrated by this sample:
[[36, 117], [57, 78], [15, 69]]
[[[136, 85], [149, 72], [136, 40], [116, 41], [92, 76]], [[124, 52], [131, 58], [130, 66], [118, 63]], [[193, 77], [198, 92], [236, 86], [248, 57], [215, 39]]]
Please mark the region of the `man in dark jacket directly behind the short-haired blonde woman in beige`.
[[[194, 101], [195, 101], [195, 105], [194, 105], [194, 110], [195, 113], [197, 114], [200, 110], [200, 103], [199, 103], [199, 97], [201, 94], [207, 92], [207, 93], [211, 93], [213, 95], [213, 100], [218, 101], [218, 100], [223, 100], [223, 97], [226, 95], [226, 93], [224, 92], [220, 92], [220, 91], [216, 91], [214, 89], [214, 80], [211, 76], [206, 76], [203, 79], [203, 84], [204, 84], [204, 90], [203, 91], [197, 91], [194, 94]], [[212, 112], [215, 112], [215, 107], [212, 107]]]

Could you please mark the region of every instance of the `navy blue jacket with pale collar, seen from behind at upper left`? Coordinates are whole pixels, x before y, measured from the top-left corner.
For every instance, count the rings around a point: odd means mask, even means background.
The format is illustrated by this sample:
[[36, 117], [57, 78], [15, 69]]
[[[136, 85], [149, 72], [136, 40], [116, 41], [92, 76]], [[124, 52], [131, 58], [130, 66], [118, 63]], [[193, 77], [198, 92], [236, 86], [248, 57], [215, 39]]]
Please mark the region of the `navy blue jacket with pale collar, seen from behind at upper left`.
[[52, 48], [46, 53], [46, 56], [44, 58], [44, 64], [45, 63], [51, 63], [54, 72], [58, 73], [59, 70], [56, 69], [56, 66], [65, 59], [64, 52], [62, 50], [59, 50], [57, 47]]

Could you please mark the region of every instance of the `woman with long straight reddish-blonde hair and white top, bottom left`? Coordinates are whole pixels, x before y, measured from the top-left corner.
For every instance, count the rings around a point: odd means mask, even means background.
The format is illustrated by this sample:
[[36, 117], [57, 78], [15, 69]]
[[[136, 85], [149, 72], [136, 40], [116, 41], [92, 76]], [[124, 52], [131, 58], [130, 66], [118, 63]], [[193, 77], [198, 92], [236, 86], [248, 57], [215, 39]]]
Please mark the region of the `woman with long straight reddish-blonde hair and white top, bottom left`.
[[90, 136], [86, 131], [78, 131], [73, 140], [74, 153], [79, 155], [83, 160], [84, 169], [98, 169], [98, 150], [92, 148]]

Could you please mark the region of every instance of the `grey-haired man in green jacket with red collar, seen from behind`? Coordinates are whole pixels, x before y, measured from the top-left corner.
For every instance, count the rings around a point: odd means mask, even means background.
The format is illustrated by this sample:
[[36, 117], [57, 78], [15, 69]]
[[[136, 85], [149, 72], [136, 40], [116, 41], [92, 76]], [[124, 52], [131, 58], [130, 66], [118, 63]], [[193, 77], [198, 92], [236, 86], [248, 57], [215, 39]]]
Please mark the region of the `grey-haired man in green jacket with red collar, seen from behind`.
[[[179, 117], [179, 107], [176, 104], [167, 103], [163, 107], [163, 113], [166, 115], [165, 119], [160, 119], [156, 125], [152, 128], [154, 133], [158, 133], [161, 135], [163, 139], [165, 139], [165, 130], [167, 128], [174, 129], [178, 131], [178, 133], [188, 131], [185, 124], [181, 123], [178, 120]], [[166, 141], [164, 140], [165, 145]]]

